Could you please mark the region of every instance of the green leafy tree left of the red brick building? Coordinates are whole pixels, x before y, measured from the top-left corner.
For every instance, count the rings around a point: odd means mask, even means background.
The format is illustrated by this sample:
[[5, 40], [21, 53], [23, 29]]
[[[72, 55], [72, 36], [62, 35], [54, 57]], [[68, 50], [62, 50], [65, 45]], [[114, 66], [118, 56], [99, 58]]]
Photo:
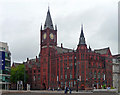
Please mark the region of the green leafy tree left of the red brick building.
[[24, 64], [20, 64], [17, 67], [11, 68], [10, 80], [12, 83], [16, 83], [17, 81], [23, 81], [26, 83], [27, 79], [28, 79], [28, 75], [25, 72]]

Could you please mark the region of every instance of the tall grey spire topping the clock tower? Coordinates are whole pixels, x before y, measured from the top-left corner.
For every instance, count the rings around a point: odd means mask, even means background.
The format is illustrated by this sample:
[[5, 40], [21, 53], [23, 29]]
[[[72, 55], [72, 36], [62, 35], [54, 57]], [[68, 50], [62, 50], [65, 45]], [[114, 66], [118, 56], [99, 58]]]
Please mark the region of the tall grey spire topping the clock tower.
[[45, 20], [45, 25], [44, 25], [44, 29], [46, 29], [46, 28], [54, 29], [53, 23], [52, 23], [52, 18], [50, 15], [49, 6], [48, 6], [48, 12], [47, 12], [46, 20]]

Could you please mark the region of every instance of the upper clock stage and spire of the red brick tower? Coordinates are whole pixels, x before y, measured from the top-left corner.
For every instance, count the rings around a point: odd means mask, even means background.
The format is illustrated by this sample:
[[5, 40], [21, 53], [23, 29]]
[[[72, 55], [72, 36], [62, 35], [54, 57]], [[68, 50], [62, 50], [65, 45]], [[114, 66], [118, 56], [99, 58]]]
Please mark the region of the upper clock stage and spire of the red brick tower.
[[57, 45], [57, 26], [55, 25], [55, 29], [53, 27], [50, 10], [48, 8], [44, 29], [42, 29], [41, 25], [41, 50], [45, 47], [52, 47]]

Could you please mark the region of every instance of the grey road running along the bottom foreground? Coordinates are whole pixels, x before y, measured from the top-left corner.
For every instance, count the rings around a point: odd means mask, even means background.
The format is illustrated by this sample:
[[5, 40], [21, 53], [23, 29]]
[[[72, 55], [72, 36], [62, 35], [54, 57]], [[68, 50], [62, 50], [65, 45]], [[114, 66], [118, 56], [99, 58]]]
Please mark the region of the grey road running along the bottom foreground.
[[[11, 91], [3, 92], [2, 95], [65, 95], [63, 91]], [[119, 95], [116, 92], [72, 92], [71, 95]]]

